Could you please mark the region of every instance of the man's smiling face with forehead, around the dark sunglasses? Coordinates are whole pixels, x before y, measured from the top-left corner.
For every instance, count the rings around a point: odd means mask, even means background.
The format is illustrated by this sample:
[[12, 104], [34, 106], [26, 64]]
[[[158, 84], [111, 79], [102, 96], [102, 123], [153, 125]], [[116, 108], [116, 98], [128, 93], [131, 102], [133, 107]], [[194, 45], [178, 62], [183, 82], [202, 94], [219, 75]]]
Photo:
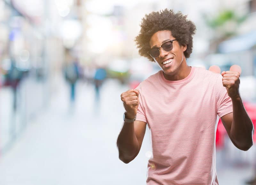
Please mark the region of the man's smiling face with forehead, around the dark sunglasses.
[[[158, 31], [152, 35], [149, 41], [150, 48], [159, 48], [163, 43], [173, 39], [175, 38], [172, 36], [171, 31]], [[182, 71], [183, 67], [187, 65], [186, 62], [183, 62], [186, 61], [183, 52], [186, 51], [187, 46], [180, 46], [178, 41], [173, 41], [172, 45], [171, 51], [164, 51], [162, 47], [159, 48], [160, 55], [154, 58], [155, 62], [164, 71], [165, 76], [177, 75]]]

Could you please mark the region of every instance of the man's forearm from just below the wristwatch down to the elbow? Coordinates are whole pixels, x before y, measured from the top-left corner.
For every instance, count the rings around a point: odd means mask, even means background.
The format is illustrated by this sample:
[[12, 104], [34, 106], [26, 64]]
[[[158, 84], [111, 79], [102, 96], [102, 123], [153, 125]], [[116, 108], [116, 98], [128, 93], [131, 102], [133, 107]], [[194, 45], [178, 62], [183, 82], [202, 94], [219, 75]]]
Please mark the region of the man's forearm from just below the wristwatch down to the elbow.
[[134, 132], [134, 123], [125, 123], [117, 138], [117, 147], [119, 151], [119, 159], [123, 162], [133, 159], [138, 153], [139, 143]]

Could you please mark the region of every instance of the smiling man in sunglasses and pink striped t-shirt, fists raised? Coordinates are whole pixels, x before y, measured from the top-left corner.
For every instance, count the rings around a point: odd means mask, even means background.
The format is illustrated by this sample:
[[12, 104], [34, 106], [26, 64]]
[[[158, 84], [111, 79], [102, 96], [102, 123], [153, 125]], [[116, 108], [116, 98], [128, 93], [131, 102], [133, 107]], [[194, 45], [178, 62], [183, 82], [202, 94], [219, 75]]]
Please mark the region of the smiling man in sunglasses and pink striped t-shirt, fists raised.
[[181, 12], [152, 12], [140, 26], [139, 53], [161, 70], [121, 94], [119, 159], [129, 163], [138, 155], [148, 124], [153, 149], [148, 185], [216, 185], [217, 115], [237, 148], [246, 151], [253, 144], [253, 124], [239, 94], [240, 74], [188, 66], [196, 27]]

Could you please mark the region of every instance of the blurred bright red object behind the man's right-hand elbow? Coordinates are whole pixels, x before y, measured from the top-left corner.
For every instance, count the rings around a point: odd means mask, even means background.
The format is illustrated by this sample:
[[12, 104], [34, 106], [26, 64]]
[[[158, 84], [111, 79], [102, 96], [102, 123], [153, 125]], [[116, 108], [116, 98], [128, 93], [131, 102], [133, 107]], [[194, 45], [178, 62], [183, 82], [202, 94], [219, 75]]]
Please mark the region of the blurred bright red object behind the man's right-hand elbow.
[[[244, 102], [245, 110], [247, 111], [249, 117], [253, 122], [254, 128], [256, 128], [256, 103]], [[216, 147], [221, 149], [224, 146], [224, 138], [227, 134], [227, 131], [221, 122], [221, 119], [218, 122], [217, 131], [216, 131]], [[253, 134], [253, 141], [256, 141], [256, 132]]]

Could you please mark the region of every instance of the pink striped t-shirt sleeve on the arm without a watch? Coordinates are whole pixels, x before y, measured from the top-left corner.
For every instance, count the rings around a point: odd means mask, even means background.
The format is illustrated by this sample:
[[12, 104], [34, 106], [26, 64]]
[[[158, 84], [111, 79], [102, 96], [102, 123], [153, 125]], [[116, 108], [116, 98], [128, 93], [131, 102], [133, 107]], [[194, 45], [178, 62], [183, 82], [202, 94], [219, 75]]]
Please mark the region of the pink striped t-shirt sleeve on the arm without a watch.
[[228, 96], [226, 87], [222, 84], [221, 75], [216, 81], [216, 111], [220, 118], [233, 112], [232, 100]]

